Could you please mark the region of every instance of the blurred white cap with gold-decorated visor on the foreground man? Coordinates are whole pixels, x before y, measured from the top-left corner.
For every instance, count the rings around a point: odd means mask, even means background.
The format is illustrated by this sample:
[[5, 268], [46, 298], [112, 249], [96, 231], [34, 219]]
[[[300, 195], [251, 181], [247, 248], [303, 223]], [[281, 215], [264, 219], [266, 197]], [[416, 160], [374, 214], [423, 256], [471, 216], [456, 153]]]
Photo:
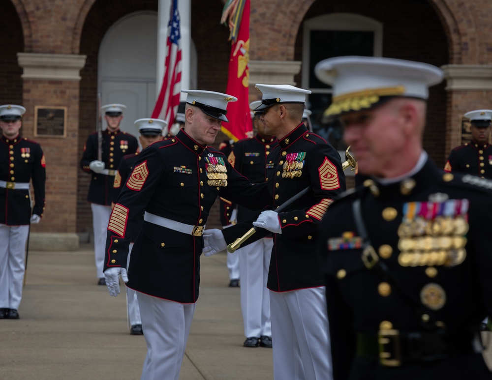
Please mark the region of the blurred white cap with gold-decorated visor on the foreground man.
[[427, 99], [442, 70], [428, 63], [382, 57], [336, 57], [316, 64], [318, 79], [333, 86], [333, 103], [324, 116], [370, 109], [394, 97]]

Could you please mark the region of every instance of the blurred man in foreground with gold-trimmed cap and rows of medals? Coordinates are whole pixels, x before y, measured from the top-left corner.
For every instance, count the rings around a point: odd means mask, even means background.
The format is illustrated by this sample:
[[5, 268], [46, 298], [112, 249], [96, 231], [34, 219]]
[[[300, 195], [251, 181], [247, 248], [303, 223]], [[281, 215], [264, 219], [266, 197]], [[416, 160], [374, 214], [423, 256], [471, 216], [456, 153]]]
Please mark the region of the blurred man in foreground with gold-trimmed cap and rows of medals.
[[492, 182], [444, 173], [422, 148], [442, 71], [338, 57], [315, 72], [367, 177], [320, 229], [334, 379], [491, 379], [479, 325], [492, 310]]

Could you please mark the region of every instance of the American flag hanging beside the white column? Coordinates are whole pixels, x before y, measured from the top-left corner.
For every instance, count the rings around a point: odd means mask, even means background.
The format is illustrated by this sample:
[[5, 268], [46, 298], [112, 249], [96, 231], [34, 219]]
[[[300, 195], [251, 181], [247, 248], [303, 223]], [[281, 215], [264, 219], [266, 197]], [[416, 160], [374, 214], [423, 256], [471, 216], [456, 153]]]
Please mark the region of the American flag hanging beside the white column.
[[164, 79], [155, 102], [152, 118], [166, 120], [168, 125], [174, 122], [180, 104], [181, 92], [181, 47], [180, 13], [178, 0], [171, 2], [169, 24], [167, 28], [167, 48]]

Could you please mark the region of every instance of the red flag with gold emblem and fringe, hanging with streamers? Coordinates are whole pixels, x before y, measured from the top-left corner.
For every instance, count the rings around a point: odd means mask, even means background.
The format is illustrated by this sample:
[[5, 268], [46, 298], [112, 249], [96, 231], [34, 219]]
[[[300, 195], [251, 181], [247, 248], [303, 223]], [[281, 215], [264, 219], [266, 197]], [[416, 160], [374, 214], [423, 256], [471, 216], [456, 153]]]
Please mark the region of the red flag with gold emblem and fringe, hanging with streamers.
[[232, 41], [229, 59], [229, 79], [226, 93], [238, 98], [227, 105], [228, 123], [221, 130], [234, 141], [251, 136], [253, 126], [249, 114], [249, 0], [228, 0], [224, 5], [221, 23], [228, 18]]

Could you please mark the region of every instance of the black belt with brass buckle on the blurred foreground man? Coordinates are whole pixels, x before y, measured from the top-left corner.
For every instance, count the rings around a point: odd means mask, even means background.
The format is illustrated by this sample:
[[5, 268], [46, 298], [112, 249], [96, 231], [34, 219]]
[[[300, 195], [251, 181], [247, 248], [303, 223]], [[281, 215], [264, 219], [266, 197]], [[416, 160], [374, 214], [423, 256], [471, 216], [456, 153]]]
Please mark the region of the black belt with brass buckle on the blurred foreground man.
[[378, 335], [357, 334], [357, 355], [378, 359], [383, 366], [442, 360], [452, 354], [483, 351], [480, 333], [400, 333], [380, 330]]

